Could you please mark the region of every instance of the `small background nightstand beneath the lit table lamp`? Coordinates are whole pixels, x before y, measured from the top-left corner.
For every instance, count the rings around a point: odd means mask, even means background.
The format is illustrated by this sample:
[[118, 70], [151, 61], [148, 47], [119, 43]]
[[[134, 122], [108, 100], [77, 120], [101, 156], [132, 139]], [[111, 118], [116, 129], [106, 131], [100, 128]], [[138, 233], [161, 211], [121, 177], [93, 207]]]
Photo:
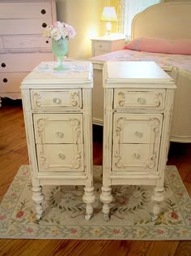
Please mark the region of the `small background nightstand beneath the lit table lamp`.
[[115, 50], [122, 50], [124, 45], [125, 36], [120, 33], [91, 38], [91, 57], [107, 54]]

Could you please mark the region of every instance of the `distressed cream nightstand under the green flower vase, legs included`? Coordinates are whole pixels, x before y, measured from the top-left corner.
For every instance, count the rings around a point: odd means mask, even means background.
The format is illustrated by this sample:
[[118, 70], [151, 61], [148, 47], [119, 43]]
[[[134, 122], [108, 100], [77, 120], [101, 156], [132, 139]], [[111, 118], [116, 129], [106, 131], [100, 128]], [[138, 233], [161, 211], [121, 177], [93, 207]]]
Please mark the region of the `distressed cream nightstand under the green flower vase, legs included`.
[[36, 217], [43, 214], [45, 184], [84, 185], [86, 219], [95, 200], [92, 175], [90, 62], [40, 63], [22, 82], [23, 112]]

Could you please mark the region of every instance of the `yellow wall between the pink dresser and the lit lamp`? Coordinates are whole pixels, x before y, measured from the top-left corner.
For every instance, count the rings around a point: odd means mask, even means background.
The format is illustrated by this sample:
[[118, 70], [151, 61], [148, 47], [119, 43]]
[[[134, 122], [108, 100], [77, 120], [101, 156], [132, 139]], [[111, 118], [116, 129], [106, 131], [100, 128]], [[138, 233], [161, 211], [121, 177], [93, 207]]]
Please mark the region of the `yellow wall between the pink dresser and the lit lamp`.
[[76, 37], [69, 41], [70, 58], [91, 57], [91, 37], [100, 36], [103, 23], [100, 15], [110, 0], [57, 0], [57, 20], [72, 25]]

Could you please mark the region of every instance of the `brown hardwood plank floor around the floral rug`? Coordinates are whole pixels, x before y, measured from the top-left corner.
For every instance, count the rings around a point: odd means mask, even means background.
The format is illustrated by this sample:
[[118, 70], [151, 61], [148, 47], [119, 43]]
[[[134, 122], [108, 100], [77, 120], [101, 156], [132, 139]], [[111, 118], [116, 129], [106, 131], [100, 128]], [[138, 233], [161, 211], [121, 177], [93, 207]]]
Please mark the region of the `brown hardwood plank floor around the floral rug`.
[[[93, 128], [94, 164], [102, 163], [102, 128]], [[21, 101], [2, 100], [0, 108], [0, 201], [20, 165], [28, 164]], [[168, 164], [176, 165], [191, 196], [191, 144], [171, 143]], [[191, 240], [191, 237], [190, 237]], [[191, 241], [0, 240], [0, 256], [36, 255], [191, 255]]]

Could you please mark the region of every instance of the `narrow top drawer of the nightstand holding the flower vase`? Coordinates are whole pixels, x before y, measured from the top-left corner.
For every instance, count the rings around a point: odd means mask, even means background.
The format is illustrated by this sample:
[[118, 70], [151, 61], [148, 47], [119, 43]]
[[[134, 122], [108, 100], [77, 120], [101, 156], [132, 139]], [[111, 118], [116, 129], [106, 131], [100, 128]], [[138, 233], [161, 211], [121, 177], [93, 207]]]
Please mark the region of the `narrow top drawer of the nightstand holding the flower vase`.
[[31, 91], [32, 109], [41, 108], [82, 108], [81, 89], [33, 90]]

